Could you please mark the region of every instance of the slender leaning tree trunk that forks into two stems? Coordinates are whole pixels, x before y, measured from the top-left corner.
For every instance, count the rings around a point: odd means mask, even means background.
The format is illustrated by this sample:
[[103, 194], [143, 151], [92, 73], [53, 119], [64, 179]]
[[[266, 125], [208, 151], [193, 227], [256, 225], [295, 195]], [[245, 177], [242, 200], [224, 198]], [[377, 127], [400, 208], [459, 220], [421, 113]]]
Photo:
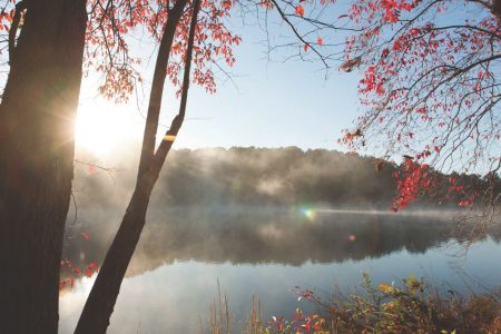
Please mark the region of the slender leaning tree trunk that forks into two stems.
[[199, 0], [195, 0], [193, 4], [194, 9], [187, 45], [179, 114], [171, 122], [167, 132], [168, 136], [166, 136], [167, 139], [161, 141], [157, 153], [154, 154], [155, 135], [158, 127], [158, 114], [160, 111], [161, 91], [166, 77], [168, 55], [170, 52], [177, 23], [179, 22], [186, 2], [186, 0], [178, 0], [169, 11], [168, 22], [164, 29], [164, 36], [157, 56], [136, 189], [84, 307], [84, 312], [75, 331], [76, 334], [100, 334], [105, 333], [108, 328], [109, 318], [114, 312], [121, 282], [137, 243], [139, 242], [143, 227], [145, 226], [151, 190], [158, 179], [164, 161], [174, 141], [170, 138], [175, 138], [183, 125], [189, 86], [195, 28], [200, 6]]

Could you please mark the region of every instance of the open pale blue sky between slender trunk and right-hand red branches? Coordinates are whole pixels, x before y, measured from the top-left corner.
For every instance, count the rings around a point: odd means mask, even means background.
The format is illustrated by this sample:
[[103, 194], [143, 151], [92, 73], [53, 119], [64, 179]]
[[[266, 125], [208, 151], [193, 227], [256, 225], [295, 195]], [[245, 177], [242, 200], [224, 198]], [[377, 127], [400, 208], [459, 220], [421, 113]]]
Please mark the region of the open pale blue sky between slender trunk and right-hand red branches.
[[[335, 148], [342, 128], [357, 110], [356, 76], [332, 70], [327, 80], [318, 62], [268, 62], [259, 33], [244, 35], [234, 72], [216, 95], [190, 91], [190, 117], [179, 146], [298, 146]], [[275, 59], [278, 59], [275, 55]]]

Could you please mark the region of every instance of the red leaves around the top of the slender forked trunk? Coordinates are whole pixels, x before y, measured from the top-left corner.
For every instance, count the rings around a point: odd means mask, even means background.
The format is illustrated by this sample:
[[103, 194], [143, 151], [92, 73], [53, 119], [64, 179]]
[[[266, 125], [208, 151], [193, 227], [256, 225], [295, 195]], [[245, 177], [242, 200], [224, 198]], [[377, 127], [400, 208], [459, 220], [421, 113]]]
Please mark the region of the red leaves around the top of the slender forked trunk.
[[[137, 68], [141, 58], [132, 55], [128, 40], [138, 29], [145, 29], [154, 40], [159, 41], [168, 18], [166, 8], [173, 3], [169, 0], [89, 1], [86, 69], [104, 73], [104, 82], [99, 87], [101, 95], [117, 101], [127, 100], [136, 84], [141, 81]], [[239, 45], [242, 39], [224, 23], [229, 18], [233, 1], [203, 1], [202, 7], [195, 33], [193, 81], [208, 92], [215, 92], [212, 65], [222, 60], [232, 66], [235, 62], [233, 47]], [[167, 66], [167, 76], [177, 87], [180, 86], [189, 21], [190, 11], [186, 11], [177, 27]]]

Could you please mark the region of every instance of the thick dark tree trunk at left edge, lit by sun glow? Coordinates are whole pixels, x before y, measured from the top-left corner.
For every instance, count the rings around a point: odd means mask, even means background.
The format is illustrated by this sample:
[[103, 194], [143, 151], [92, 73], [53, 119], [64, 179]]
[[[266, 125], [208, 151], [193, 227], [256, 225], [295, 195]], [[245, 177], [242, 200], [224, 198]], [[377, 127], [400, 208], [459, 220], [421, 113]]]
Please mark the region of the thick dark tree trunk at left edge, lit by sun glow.
[[0, 331], [57, 333], [86, 0], [23, 7], [0, 105]]

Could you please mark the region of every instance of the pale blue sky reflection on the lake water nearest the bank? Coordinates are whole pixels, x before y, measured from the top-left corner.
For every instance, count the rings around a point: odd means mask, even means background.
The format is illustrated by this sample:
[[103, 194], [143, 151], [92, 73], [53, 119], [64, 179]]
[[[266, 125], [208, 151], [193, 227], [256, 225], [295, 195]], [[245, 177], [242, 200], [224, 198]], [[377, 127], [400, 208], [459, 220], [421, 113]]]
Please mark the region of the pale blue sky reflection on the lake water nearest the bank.
[[[371, 273], [374, 284], [396, 282], [412, 272], [435, 284], [446, 281], [464, 291], [464, 275], [458, 275], [455, 269], [459, 267], [474, 276], [468, 282], [477, 291], [478, 282], [488, 287], [501, 284], [500, 244], [488, 238], [473, 246], [465, 258], [454, 254], [453, 248], [432, 247], [424, 254], [400, 249], [380, 258], [332, 264], [308, 261], [301, 266], [176, 261], [124, 281], [108, 333], [197, 333], [198, 316], [207, 331], [209, 305], [217, 297], [217, 279], [229, 298], [234, 331], [239, 326], [236, 321], [249, 316], [253, 294], [259, 295], [265, 315], [289, 317], [295, 307], [307, 310], [307, 302], [297, 302], [288, 291], [291, 287], [313, 287], [327, 295], [336, 284], [347, 291], [360, 284], [364, 271]], [[80, 282], [71, 293], [61, 296], [60, 333], [75, 328], [91, 283], [94, 278]]]

